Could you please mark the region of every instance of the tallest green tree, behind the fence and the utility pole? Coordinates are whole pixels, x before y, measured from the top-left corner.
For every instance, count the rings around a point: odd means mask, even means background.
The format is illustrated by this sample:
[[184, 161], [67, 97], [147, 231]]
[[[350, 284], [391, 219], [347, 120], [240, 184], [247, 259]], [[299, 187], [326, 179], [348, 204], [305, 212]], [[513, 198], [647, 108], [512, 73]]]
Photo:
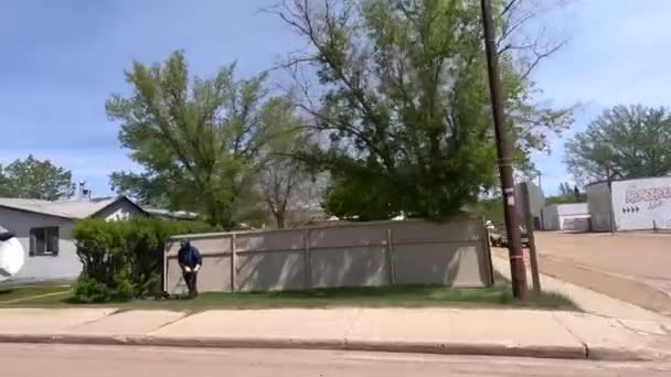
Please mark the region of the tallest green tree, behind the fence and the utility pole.
[[[521, 3], [494, 1], [508, 129], [523, 169], [531, 150], [546, 148], [547, 131], [567, 126], [569, 111], [532, 103], [529, 74], [556, 46], [542, 51], [511, 36], [531, 18], [512, 15]], [[332, 176], [329, 212], [443, 216], [494, 184], [479, 2], [286, 0], [278, 14], [310, 46], [287, 66], [318, 136], [301, 158]]]

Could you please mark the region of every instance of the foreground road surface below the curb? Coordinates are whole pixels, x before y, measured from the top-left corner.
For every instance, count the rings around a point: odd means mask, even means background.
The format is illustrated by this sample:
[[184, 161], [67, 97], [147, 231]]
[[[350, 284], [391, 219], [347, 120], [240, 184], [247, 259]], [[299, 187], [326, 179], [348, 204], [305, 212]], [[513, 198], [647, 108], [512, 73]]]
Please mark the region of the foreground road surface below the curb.
[[330, 351], [0, 344], [0, 375], [90, 376], [670, 376], [671, 364]]

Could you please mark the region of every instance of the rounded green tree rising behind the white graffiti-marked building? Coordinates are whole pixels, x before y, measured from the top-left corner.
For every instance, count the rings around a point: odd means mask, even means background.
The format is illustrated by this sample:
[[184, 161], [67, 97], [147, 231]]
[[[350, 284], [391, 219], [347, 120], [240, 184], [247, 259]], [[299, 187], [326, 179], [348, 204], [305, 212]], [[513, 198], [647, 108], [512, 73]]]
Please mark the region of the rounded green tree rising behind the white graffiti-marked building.
[[671, 114], [665, 108], [616, 106], [566, 143], [565, 163], [577, 182], [671, 174]]

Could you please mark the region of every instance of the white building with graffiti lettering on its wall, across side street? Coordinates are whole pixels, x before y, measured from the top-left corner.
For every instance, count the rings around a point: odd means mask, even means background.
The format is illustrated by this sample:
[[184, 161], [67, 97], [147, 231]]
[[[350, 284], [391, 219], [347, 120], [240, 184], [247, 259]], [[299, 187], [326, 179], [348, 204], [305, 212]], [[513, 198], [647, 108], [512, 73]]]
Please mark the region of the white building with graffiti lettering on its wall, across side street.
[[[586, 187], [592, 229], [671, 229], [671, 176], [615, 181]], [[613, 227], [611, 227], [613, 219]]]

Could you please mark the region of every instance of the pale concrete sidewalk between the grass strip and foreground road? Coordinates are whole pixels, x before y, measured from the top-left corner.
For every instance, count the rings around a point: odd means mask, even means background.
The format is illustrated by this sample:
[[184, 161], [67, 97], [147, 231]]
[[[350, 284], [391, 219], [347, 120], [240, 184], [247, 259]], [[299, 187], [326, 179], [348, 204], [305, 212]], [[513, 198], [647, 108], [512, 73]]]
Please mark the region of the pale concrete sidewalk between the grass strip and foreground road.
[[0, 342], [671, 359], [665, 324], [528, 310], [2, 309]]

